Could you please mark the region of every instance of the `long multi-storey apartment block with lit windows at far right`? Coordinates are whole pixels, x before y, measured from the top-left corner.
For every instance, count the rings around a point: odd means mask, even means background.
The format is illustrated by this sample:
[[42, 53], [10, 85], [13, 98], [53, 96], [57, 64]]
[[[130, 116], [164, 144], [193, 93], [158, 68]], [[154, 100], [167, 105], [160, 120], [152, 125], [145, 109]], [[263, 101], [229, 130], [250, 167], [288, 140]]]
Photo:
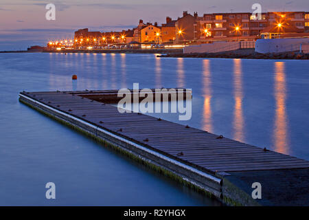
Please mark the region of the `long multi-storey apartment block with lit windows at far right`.
[[[281, 30], [284, 32], [308, 32], [309, 13], [265, 12], [260, 17], [248, 12], [204, 14], [202, 19], [196, 19], [196, 41], [203, 43], [222, 40], [254, 40], [260, 38], [266, 28], [277, 27], [277, 25], [282, 27]], [[273, 32], [275, 33], [282, 34]]]

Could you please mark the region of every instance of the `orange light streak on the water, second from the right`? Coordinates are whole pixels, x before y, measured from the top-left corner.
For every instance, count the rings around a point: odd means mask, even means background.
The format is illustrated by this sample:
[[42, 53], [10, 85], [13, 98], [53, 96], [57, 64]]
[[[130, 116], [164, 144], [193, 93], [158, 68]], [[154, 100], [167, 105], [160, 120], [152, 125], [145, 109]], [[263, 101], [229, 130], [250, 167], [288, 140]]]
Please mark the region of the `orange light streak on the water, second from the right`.
[[233, 85], [234, 85], [234, 113], [233, 113], [233, 138], [244, 142], [244, 118], [242, 114], [242, 61], [234, 59]]

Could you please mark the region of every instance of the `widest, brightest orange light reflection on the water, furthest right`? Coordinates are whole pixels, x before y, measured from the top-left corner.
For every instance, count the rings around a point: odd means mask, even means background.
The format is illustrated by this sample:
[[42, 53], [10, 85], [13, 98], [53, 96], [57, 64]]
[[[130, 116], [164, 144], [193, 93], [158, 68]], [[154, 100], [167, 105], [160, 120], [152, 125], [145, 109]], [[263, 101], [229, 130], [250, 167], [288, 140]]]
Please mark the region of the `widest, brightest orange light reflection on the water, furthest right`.
[[275, 124], [274, 145], [275, 151], [288, 153], [287, 116], [286, 116], [286, 76], [284, 63], [275, 62]]

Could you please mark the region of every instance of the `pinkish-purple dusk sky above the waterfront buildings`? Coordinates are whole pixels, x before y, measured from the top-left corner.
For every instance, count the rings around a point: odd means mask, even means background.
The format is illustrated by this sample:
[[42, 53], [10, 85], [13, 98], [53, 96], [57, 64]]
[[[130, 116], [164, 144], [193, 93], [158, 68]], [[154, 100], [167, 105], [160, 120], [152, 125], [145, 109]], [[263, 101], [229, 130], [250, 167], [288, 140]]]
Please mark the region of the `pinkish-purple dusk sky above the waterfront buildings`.
[[[56, 21], [47, 21], [45, 5], [56, 5]], [[73, 37], [74, 30], [110, 31], [133, 28], [144, 22], [165, 22], [181, 17], [183, 10], [198, 12], [252, 12], [260, 3], [262, 11], [309, 11], [308, 0], [1, 0], [0, 50], [26, 50], [45, 45], [51, 39]]]

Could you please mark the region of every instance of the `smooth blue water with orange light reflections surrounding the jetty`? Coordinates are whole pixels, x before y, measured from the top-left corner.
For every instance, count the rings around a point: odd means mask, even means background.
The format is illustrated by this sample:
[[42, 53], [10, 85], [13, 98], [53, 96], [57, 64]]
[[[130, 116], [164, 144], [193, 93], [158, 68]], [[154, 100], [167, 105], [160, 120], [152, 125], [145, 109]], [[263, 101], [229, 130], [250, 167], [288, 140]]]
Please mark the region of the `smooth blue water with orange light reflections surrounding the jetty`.
[[190, 121], [160, 117], [309, 159], [308, 70], [309, 61], [0, 54], [0, 205], [220, 205], [26, 107], [19, 91], [192, 88]]

